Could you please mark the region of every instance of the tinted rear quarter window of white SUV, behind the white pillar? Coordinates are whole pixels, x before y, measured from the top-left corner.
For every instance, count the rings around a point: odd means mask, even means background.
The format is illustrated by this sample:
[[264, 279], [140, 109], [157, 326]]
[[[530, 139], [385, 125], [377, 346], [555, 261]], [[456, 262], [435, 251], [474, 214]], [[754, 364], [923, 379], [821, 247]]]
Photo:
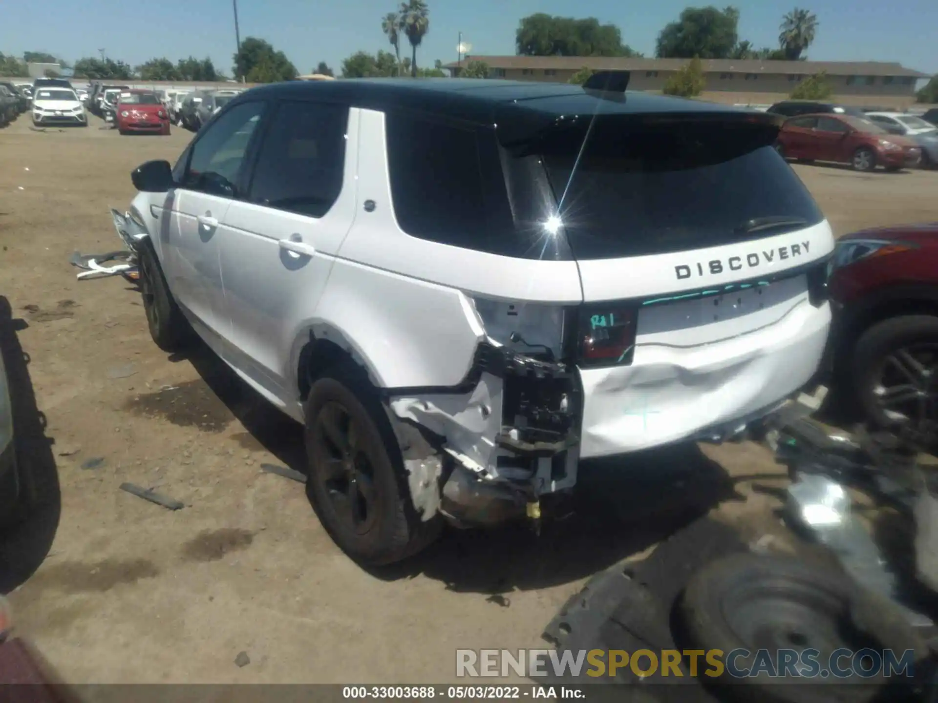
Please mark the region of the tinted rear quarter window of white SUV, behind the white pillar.
[[[388, 170], [401, 230], [453, 247], [525, 259], [545, 257], [508, 204], [507, 177], [491, 130], [411, 112], [386, 114]], [[547, 255], [552, 257], [552, 252]]]

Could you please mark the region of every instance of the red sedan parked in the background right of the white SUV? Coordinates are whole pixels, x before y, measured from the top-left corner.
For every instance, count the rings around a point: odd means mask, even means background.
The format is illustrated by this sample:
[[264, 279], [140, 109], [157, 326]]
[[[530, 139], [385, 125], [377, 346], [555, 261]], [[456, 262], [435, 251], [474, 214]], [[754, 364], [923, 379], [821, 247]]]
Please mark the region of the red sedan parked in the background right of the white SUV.
[[840, 161], [856, 171], [899, 171], [915, 166], [921, 149], [871, 120], [850, 114], [803, 114], [785, 121], [776, 142], [779, 154], [799, 161]]

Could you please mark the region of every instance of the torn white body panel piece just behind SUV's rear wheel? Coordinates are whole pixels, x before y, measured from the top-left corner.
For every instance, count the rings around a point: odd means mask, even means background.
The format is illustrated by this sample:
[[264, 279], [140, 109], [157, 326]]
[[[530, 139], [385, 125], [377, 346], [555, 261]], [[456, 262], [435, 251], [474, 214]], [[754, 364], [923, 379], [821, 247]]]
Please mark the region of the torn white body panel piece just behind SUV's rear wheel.
[[467, 469], [487, 474], [494, 465], [502, 427], [501, 379], [483, 373], [470, 393], [399, 397], [390, 406], [399, 417], [446, 438], [443, 448]]

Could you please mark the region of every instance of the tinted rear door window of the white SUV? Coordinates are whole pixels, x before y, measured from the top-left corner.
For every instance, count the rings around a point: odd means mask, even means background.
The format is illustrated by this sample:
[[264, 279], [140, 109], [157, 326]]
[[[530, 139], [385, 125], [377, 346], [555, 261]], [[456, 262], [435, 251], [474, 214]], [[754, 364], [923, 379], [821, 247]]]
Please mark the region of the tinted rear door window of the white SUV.
[[280, 103], [261, 146], [250, 201], [323, 217], [342, 189], [348, 114], [342, 105]]

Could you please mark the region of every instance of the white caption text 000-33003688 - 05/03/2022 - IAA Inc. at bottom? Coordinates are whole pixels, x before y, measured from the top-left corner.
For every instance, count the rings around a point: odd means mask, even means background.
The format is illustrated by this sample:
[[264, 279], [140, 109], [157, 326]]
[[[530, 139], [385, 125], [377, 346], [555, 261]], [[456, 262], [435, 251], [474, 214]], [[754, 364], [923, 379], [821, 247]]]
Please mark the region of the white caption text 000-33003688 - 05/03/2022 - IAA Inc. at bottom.
[[350, 700], [523, 700], [582, 699], [577, 686], [343, 686], [342, 697]]

